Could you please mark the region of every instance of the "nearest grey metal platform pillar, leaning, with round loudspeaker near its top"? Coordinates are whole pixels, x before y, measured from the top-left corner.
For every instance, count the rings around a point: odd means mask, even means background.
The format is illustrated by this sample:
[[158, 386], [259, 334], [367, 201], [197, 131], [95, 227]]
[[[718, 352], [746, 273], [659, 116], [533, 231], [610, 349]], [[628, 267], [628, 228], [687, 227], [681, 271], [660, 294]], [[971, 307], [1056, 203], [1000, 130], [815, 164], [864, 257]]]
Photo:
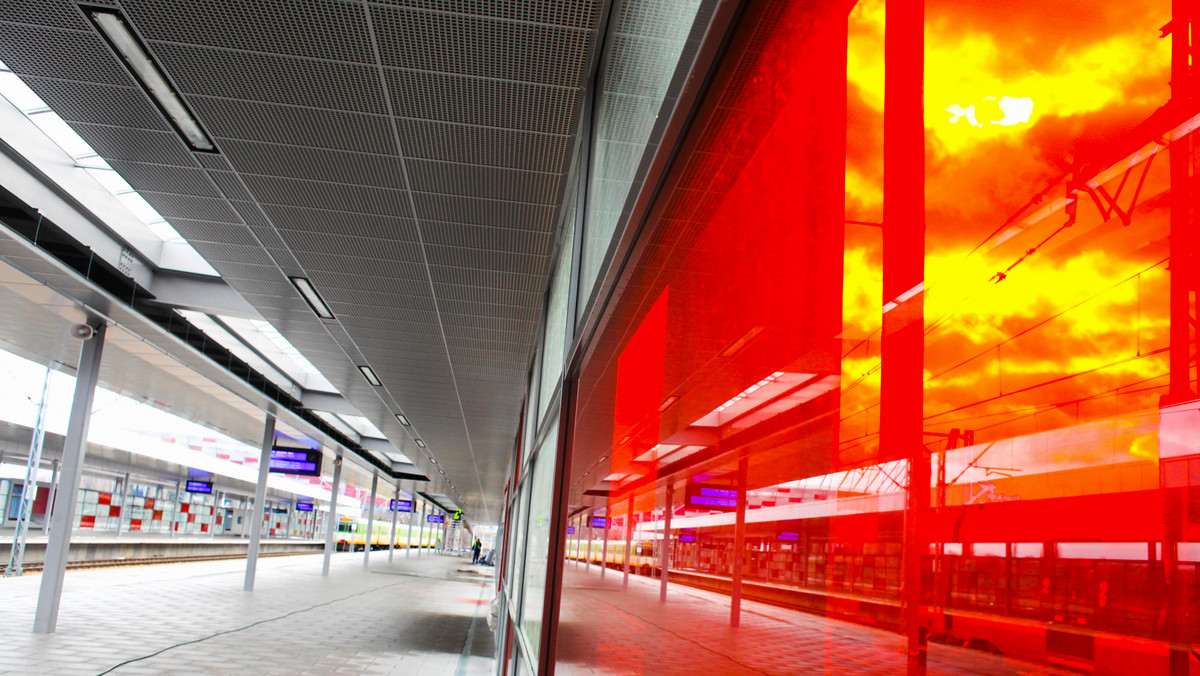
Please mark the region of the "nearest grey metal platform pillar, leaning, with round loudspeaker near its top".
[[88, 427], [91, 424], [91, 405], [96, 399], [96, 381], [100, 376], [100, 358], [104, 352], [104, 329], [101, 322], [79, 351], [79, 369], [76, 372], [74, 397], [71, 400], [71, 418], [67, 436], [62, 443], [61, 490], [54, 495], [50, 510], [49, 542], [46, 543], [46, 563], [42, 568], [42, 586], [37, 594], [37, 611], [34, 615], [34, 633], [54, 633], [59, 623], [59, 600], [62, 598], [62, 578], [67, 570], [67, 551], [71, 549], [71, 528], [74, 526], [74, 499], [83, 478], [83, 462], [88, 453]]

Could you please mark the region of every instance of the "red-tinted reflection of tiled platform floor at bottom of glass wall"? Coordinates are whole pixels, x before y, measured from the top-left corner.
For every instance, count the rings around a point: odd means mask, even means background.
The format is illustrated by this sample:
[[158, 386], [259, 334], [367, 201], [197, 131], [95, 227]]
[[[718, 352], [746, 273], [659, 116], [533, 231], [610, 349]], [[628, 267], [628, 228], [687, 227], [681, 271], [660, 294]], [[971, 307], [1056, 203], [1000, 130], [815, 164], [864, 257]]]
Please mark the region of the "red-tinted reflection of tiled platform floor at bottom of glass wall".
[[[904, 639], [889, 632], [752, 602], [730, 628], [728, 597], [568, 563], [558, 676], [592, 674], [902, 675]], [[930, 645], [930, 676], [1067, 676], [1076, 672]], [[1078, 675], [1076, 675], [1078, 676]]]

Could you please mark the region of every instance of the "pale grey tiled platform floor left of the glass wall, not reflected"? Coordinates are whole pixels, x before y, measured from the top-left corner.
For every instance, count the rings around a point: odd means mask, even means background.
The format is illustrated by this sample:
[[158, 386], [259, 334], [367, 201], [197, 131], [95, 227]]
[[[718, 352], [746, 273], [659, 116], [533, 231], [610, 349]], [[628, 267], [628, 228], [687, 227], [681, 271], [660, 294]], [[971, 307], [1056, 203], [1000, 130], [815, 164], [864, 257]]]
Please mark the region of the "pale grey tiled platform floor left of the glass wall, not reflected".
[[[40, 575], [0, 579], [0, 674], [404, 674], [496, 671], [491, 568], [397, 551], [71, 570], [58, 633], [30, 632]], [[486, 575], [486, 576], [485, 576]]]

